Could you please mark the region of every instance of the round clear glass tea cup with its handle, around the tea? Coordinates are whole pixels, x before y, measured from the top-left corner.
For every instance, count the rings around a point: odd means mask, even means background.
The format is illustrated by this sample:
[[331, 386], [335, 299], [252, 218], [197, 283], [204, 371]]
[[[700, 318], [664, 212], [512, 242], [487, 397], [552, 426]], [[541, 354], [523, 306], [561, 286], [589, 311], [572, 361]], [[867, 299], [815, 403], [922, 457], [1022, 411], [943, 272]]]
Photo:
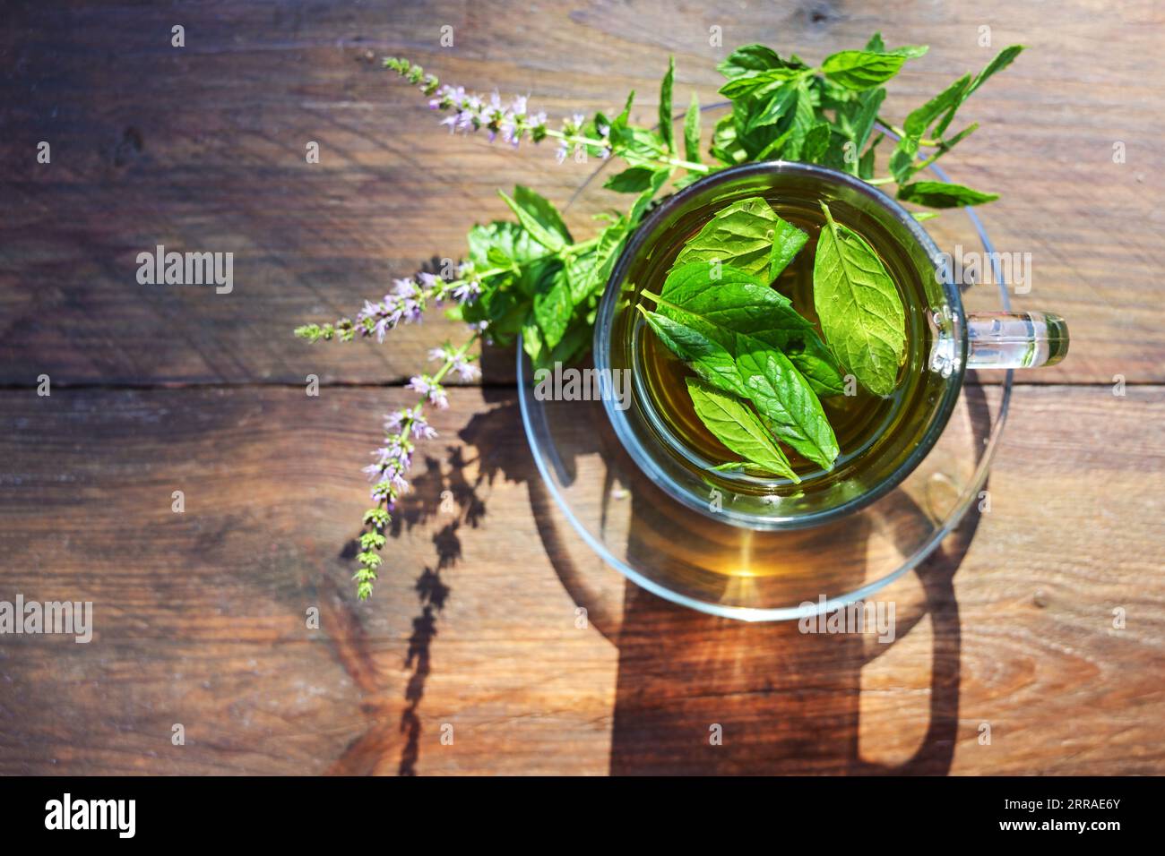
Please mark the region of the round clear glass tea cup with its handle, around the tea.
[[[685, 444], [647, 390], [644, 337], [652, 335], [636, 310], [641, 292], [659, 281], [684, 242], [726, 206], [764, 197], [778, 213], [819, 210], [861, 234], [899, 276], [908, 328], [925, 331], [925, 352], [884, 430], [860, 454], [846, 450], [829, 472], [800, 483], [742, 471], [716, 471]], [[628, 372], [630, 401], [603, 398], [607, 416], [628, 454], [664, 493], [720, 522], [753, 530], [820, 525], [885, 495], [931, 452], [959, 399], [968, 368], [1036, 368], [1067, 353], [1064, 320], [1047, 312], [963, 311], [949, 256], [897, 201], [861, 179], [825, 167], [783, 161], [715, 172], [669, 197], [645, 218], [615, 263], [599, 304], [594, 361], [600, 376]], [[714, 286], [713, 286], [714, 288]], [[647, 304], [652, 307], [651, 304]], [[919, 339], [923, 341], [924, 339]]]

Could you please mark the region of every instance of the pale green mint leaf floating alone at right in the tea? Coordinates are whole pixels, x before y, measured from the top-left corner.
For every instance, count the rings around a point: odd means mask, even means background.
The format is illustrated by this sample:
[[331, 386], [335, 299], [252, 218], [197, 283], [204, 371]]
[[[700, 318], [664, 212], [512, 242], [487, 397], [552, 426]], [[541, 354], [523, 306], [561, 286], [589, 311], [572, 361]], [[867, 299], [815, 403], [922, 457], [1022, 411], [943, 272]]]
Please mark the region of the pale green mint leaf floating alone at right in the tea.
[[894, 280], [874, 248], [838, 224], [821, 203], [813, 260], [813, 306], [825, 340], [866, 389], [889, 395], [906, 353], [906, 313]]

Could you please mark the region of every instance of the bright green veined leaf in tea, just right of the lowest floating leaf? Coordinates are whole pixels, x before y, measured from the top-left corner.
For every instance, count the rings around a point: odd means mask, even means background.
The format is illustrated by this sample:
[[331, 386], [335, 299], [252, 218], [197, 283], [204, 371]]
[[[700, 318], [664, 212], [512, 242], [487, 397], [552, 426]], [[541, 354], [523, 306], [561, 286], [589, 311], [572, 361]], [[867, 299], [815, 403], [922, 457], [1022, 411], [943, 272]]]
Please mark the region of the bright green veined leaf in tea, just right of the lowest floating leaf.
[[821, 402], [789, 358], [760, 339], [737, 333], [736, 372], [764, 426], [804, 458], [832, 469], [838, 438]]

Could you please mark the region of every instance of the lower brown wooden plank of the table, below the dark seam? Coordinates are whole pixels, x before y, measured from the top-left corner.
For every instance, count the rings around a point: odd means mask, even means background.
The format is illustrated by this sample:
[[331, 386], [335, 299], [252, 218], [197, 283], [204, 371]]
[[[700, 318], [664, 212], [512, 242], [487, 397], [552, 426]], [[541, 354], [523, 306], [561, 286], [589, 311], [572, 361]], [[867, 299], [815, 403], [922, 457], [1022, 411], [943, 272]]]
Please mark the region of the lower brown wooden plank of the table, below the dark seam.
[[1017, 390], [990, 512], [887, 590], [917, 623], [873, 655], [634, 586], [613, 613], [576, 600], [582, 553], [506, 390], [438, 415], [354, 602], [355, 471], [403, 401], [0, 394], [0, 599], [96, 610], [87, 645], [0, 644], [0, 772], [1165, 771], [1160, 388]]

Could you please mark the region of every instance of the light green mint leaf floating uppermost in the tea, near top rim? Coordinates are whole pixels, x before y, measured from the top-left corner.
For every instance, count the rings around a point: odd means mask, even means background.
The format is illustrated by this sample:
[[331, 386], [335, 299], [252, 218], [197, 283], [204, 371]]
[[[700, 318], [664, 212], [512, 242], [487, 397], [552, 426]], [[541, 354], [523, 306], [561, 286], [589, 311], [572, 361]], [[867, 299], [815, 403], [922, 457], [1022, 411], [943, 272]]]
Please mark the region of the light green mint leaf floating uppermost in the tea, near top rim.
[[785, 222], [762, 197], [733, 203], [716, 212], [684, 245], [676, 264], [715, 262], [772, 281], [809, 236]]

